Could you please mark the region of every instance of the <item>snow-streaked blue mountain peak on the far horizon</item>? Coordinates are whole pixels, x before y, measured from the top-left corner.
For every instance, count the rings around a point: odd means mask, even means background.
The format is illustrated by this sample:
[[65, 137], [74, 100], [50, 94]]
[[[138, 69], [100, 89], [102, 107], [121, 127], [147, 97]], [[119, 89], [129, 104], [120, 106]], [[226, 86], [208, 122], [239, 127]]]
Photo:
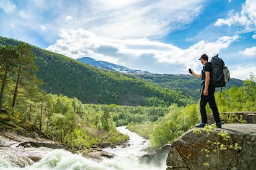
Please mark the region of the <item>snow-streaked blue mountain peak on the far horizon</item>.
[[142, 71], [142, 70], [132, 70], [130, 68], [116, 65], [114, 63], [109, 63], [101, 60], [95, 60], [90, 57], [82, 57], [80, 59], [77, 59], [80, 62], [87, 63], [88, 65], [92, 65], [93, 67], [99, 68], [101, 70], [106, 71], [118, 71], [120, 73], [130, 73], [130, 74], [150, 74], [148, 71]]

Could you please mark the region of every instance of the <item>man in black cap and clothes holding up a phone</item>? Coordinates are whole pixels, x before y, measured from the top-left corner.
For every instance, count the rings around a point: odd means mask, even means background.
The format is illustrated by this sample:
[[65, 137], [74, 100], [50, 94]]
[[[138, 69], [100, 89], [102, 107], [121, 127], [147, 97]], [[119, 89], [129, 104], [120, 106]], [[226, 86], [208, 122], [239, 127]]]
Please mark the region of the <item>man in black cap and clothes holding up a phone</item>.
[[210, 105], [211, 110], [213, 111], [213, 117], [215, 119], [215, 124], [217, 127], [221, 128], [220, 123], [220, 115], [219, 111], [215, 102], [215, 87], [211, 84], [211, 71], [213, 70], [213, 67], [210, 62], [208, 62], [208, 56], [207, 54], [203, 54], [200, 59], [203, 64], [203, 70], [201, 75], [197, 75], [194, 73], [194, 71], [191, 70], [191, 75], [196, 76], [198, 78], [202, 79], [202, 93], [200, 97], [200, 113], [201, 113], [201, 119], [202, 122], [199, 124], [195, 124], [195, 127], [205, 127], [207, 124], [207, 113], [205, 106], [207, 105], [207, 102]]

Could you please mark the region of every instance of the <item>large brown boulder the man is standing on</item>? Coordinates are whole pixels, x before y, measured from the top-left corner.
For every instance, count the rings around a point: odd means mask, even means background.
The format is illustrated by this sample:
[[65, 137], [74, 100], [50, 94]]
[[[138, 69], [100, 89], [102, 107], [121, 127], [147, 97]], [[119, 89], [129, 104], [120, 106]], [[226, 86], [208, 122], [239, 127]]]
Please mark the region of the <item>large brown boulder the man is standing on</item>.
[[[195, 133], [195, 129], [202, 134]], [[223, 124], [221, 129], [213, 130], [192, 128], [174, 140], [167, 169], [256, 169], [256, 124]], [[218, 135], [221, 131], [228, 133], [228, 140]]]

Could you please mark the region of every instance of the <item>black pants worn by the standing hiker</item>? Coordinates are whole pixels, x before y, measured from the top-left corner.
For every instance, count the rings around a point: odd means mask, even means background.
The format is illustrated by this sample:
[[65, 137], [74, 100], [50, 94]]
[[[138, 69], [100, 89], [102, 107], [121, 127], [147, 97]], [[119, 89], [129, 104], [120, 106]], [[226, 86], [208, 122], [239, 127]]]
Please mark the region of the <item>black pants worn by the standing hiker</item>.
[[211, 86], [211, 84], [209, 84], [207, 96], [203, 95], [203, 90], [202, 90], [201, 99], [200, 99], [200, 113], [201, 113], [202, 123], [207, 123], [207, 113], [205, 109], [207, 102], [209, 103], [210, 108], [213, 111], [213, 117], [215, 119], [215, 123], [220, 123], [220, 115], [215, 102], [214, 93], [215, 93], [215, 87]]

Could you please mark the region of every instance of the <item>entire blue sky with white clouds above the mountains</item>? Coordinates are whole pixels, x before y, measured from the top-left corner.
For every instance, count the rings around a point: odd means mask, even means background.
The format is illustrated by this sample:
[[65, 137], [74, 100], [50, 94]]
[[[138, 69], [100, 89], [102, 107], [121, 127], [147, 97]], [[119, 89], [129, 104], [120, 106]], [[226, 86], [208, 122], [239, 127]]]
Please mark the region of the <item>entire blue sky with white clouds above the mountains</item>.
[[0, 36], [72, 59], [184, 74], [219, 54], [231, 78], [256, 75], [256, 0], [0, 0], [0, 18]]

